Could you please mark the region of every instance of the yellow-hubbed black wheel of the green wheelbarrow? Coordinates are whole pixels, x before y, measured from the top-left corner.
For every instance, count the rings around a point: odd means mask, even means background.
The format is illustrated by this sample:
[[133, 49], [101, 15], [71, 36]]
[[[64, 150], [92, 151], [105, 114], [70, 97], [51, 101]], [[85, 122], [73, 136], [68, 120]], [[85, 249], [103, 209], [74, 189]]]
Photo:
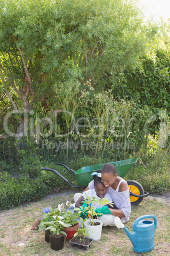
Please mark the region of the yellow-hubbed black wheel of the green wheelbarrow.
[[[138, 181], [128, 180], [127, 183], [128, 183], [129, 192], [132, 192], [135, 195], [144, 194], [143, 187], [140, 185]], [[136, 196], [130, 195], [131, 205], [138, 205], [141, 203], [142, 200], [143, 200], [143, 197], [136, 197]]]

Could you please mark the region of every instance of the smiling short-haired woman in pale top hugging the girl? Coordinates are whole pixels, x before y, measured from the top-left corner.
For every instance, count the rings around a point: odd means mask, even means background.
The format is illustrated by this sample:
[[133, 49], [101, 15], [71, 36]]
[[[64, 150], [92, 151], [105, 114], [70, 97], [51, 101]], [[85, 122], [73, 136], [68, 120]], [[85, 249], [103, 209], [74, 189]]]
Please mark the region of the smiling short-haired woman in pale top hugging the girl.
[[[101, 182], [107, 188], [107, 192], [112, 197], [117, 209], [109, 209], [112, 215], [103, 215], [98, 218], [103, 221], [105, 226], [114, 226], [115, 216], [121, 218], [122, 223], [128, 222], [131, 213], [128, 183], [117, 175], [116, 167], [113, 164], [105, 164], [103, 166], [101, 169]], [[94, 181], [91, 181], [84, 192], [93, 188]]]

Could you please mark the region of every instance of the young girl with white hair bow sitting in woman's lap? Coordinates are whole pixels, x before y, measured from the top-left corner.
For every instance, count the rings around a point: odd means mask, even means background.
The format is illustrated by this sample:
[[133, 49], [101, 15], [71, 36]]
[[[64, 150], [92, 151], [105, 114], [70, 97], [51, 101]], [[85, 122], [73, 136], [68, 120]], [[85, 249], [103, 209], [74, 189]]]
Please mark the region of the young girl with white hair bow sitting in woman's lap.
[[[105, 199], [112, 201], [112, 198], [107, 193], [107, 187], [105, 187], [103, 183], [101, 183], [101, 173], [94, 172], [91, 175], [93, 175], [94, 188], [86, 190], [86, 192], [82, 193], [82, 196], [79, 197], [79, 199], [75, 203], [75, 207], [77, 208], [79, 208], [82, 205], [82, 203], [84, 203], [84, 199], [86, 200], [88, 199], [88, 197], [96, 197], [97, 199], [98, 198], [101, 199], [102, 197], [104, 197]], [[96, 210], [96, 208], [102, 207], [100, 203], [96, 203], [93, 206], [94, 206], [94, 210]]]

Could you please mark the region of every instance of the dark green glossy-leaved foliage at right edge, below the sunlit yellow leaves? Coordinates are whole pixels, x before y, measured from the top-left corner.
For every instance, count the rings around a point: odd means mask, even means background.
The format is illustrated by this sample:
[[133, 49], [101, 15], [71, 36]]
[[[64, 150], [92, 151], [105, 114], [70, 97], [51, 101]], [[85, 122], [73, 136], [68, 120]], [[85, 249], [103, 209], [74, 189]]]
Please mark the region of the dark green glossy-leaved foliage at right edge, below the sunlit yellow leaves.
[[140, 69], [126, 69], [126, 80], [113, 87], [118, 99], [133, 98], [141, 108], [148, 106], [154, 113], [164, 109], [169, 112], [169, 57], [167, 45], [166, 49], [155, 49], [155, 53], [144, 56]]

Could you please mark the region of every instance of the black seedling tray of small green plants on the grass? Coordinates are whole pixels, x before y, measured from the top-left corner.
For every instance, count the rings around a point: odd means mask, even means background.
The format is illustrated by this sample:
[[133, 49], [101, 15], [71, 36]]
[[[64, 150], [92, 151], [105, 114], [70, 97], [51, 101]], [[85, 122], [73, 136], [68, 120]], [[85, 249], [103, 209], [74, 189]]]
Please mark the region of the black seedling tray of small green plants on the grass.
[[88, 232], [83, 224], [81, 225], [81, 228], [77, 229], [77, 232], [74, 234], [74, 238], [69, 241], [72, 247], [77, 247], [83, 250], [88, 250], [92, 242], [93, 239], [88, 238]]

